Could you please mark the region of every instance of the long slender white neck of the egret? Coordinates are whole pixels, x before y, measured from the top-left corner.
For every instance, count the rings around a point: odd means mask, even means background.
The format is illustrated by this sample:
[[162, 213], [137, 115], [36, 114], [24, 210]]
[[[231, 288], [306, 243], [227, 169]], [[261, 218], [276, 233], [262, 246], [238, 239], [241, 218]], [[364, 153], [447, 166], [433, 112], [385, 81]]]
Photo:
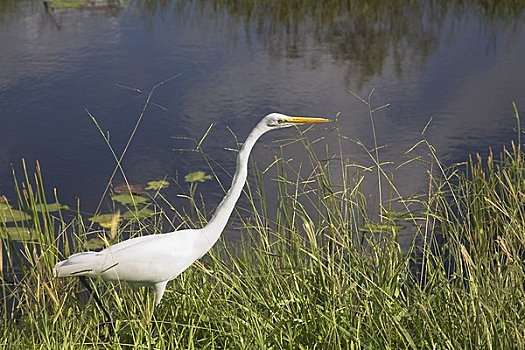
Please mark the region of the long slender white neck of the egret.
[[204, 227], [204, 235], [206, 236], [206, 241], [211, 247], [217, 239], [220, 237], [224, 227], [228, 223], [233, 209], [235, 208], [235, 203], [239, 199], [244, 184], [246, 183], [246, 177], [248, 176], [248, 159], [250, 157], [250, 152], [252, 151], [255, 142], [263, 135], [267, 129], [258, 125], [253, 129], [253, 131], [248, 135], [248, 138], [244, 142], [239, 154], [237, 155], [237, 170], [233, 176], [232, 185], [224, 196], [224, 199], [219, 204], [215, 210], [215, 214]]

